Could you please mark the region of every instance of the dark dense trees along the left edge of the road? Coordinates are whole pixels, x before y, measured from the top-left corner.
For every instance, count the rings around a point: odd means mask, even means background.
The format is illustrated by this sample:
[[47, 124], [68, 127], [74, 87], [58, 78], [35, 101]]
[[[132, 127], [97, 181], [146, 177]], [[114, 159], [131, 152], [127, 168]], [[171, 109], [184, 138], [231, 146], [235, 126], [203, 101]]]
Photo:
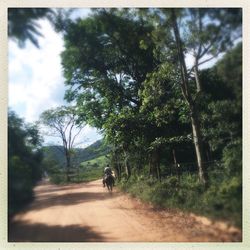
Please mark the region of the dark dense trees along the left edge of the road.
[[36, 125], [8, 113], [8, 212], [11, 216], [33, 197], [42, 177], [41, 137]]

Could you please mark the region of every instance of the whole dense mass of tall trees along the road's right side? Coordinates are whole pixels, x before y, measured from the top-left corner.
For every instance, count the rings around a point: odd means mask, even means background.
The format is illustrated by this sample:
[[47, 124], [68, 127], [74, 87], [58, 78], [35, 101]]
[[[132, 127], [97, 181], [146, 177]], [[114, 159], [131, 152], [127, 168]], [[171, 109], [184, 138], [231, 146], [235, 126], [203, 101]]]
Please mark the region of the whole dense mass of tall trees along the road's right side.
[[240, 147], [240, 9], [97, 9], [62, 31], [65, 97], [103, 130], [118, 173], [148, 166], [160, 179], [163, 162], [189, 159], [206, 184], [205, 162]]

